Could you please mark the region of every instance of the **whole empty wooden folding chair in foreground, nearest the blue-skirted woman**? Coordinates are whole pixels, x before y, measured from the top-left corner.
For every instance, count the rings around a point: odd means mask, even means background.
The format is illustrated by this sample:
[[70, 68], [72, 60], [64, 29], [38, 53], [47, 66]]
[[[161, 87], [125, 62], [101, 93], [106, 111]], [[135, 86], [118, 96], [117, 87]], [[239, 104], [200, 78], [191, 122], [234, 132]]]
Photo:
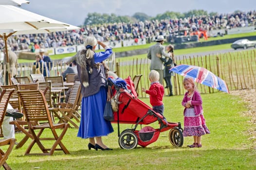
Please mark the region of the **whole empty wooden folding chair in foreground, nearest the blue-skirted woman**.
[[[53, 124], [43, 92], [41, 90], [29, 90], [29, 91], [24, 90], [24, 91], [18, 91], [18, 96], [22, 103], [28, 128], [33, 138], [32, 142], [30, 143], [29, 147], [25, 152], [25, 155], [28, 155], [28, 154], [53, 155], [55, 151], [63, 151], [65, 154], [68, 154], [69, 151], [63, 145], [61, 140], [66, 134], [69, 128], [69, 124], [68, 123]], [[40, 122], [44, 122], [44, 123], [40, 124]], [[41, 137], [45, 129], [50, 129], [53, 137]], [[59, 136], [55, 131], [56, 129], [62, 130]], [[39, 132], [36, 134], [35, 131], [37, 130], [39, 130]], [[43, 145], [43, 142], [41, 142], [45, 140], [51, 140], [55, 142], [51, 148], [45, 148]], [[42, 153], [30, 153], [35, 143], [37, 143], [37, 146], [42, 151]], [[59, 148], [56, 148], [57, 146], [59, 146]]]

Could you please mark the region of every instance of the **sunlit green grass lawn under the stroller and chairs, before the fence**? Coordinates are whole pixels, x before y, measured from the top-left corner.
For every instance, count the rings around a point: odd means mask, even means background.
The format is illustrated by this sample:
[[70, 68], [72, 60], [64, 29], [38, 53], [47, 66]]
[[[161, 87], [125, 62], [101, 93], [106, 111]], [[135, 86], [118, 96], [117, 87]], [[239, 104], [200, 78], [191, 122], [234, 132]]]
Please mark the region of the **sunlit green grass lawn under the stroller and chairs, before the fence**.
[[[12, 151], [7, 163], [13, 170], [255, 170], [256, 151], [252, 149], [255, 146], [248, 132], [254, 127], [249, 124], [250, 117], [242, 116], [246, 103], [222, 92], [201, 97], [206, 124], [211, 131], [202, 136], [202, 148], [186, 147], [193, 143], [192, 137], [184, 137], [183, 147], [175, 148], [166, 131], [146, 148], [123, 150], [118, 145], [117, 124], [112, 124], [114, 132], [103, 137], [103, 141], [113, 151], [89, 151], [89, 140], [76, 137], [78, 130], [70, 128], [62, 140], [70, 154], [56, 151], [53, 156], [24, 156], [29, 139], [22, 148]], [[164, 115], [168, 121], [183, 125], [182, 99], [183, 96], [164, 97]], [[148, 98], [142, 100], [149, 104]], [[157, 123], [150, 126], [159, 128]], [[121, 131], [130, 127], [130, 124], [120, 124]], [[17, 141], [23, 136], [16, 134]]]

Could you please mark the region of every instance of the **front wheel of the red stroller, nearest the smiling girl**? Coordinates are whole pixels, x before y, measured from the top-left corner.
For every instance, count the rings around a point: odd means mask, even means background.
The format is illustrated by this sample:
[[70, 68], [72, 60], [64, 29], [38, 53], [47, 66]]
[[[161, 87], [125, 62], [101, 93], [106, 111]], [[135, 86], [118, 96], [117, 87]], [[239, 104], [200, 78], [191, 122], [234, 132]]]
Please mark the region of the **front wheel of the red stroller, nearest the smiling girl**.
[[169, 140], [175, 147], [181, 147], [183, 145], [183, 134], [180, 129], [171, 129], [169, 132]]

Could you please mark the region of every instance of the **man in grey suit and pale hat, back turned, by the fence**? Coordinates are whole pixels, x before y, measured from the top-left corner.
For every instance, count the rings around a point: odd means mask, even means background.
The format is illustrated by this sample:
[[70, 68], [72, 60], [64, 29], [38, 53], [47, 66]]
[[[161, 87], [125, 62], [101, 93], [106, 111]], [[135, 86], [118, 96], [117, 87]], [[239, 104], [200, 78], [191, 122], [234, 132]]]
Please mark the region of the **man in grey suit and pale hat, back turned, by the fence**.
[[157, 72], [159, 72], [160, 79], [159, 82], [164, 85], [163, 83], [163, 70], [164, 70], [164, 63], [160, 59], [160, 57], [165, 56], [165, 57], [170, 57], [169, 53], [165, 52], [165, 47], [163, 46], [164, 43], [164, 36], [163, 35], [158, 35], [156, 39], [156, 44], [149, 47], [148, 53], [147, 53], [147, 58], [151, 60], [150, 64], [150, 70], [154, 69]]

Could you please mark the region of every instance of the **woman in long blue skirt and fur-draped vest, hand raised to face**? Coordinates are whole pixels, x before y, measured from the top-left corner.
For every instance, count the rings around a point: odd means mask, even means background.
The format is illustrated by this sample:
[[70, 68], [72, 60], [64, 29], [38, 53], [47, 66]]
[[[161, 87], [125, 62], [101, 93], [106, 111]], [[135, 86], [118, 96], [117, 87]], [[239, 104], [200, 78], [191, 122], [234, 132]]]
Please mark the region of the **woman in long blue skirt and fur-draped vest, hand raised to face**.
[[[102, 46], [104, 52], [94, 52], [96, 45]], [[110, 121], [103, 118], [107, 101], [106, 76], [102, 61], [112, 54], [110, 47], [97, 41], [94, 36], [85, 40], [85, 50], [78, 51], [77, 73], [81, 83], [82, 106], [78, 137], [89, 138], [88, 149], [112, 150], [102, 142], [102, 136], [113, 132]]]

